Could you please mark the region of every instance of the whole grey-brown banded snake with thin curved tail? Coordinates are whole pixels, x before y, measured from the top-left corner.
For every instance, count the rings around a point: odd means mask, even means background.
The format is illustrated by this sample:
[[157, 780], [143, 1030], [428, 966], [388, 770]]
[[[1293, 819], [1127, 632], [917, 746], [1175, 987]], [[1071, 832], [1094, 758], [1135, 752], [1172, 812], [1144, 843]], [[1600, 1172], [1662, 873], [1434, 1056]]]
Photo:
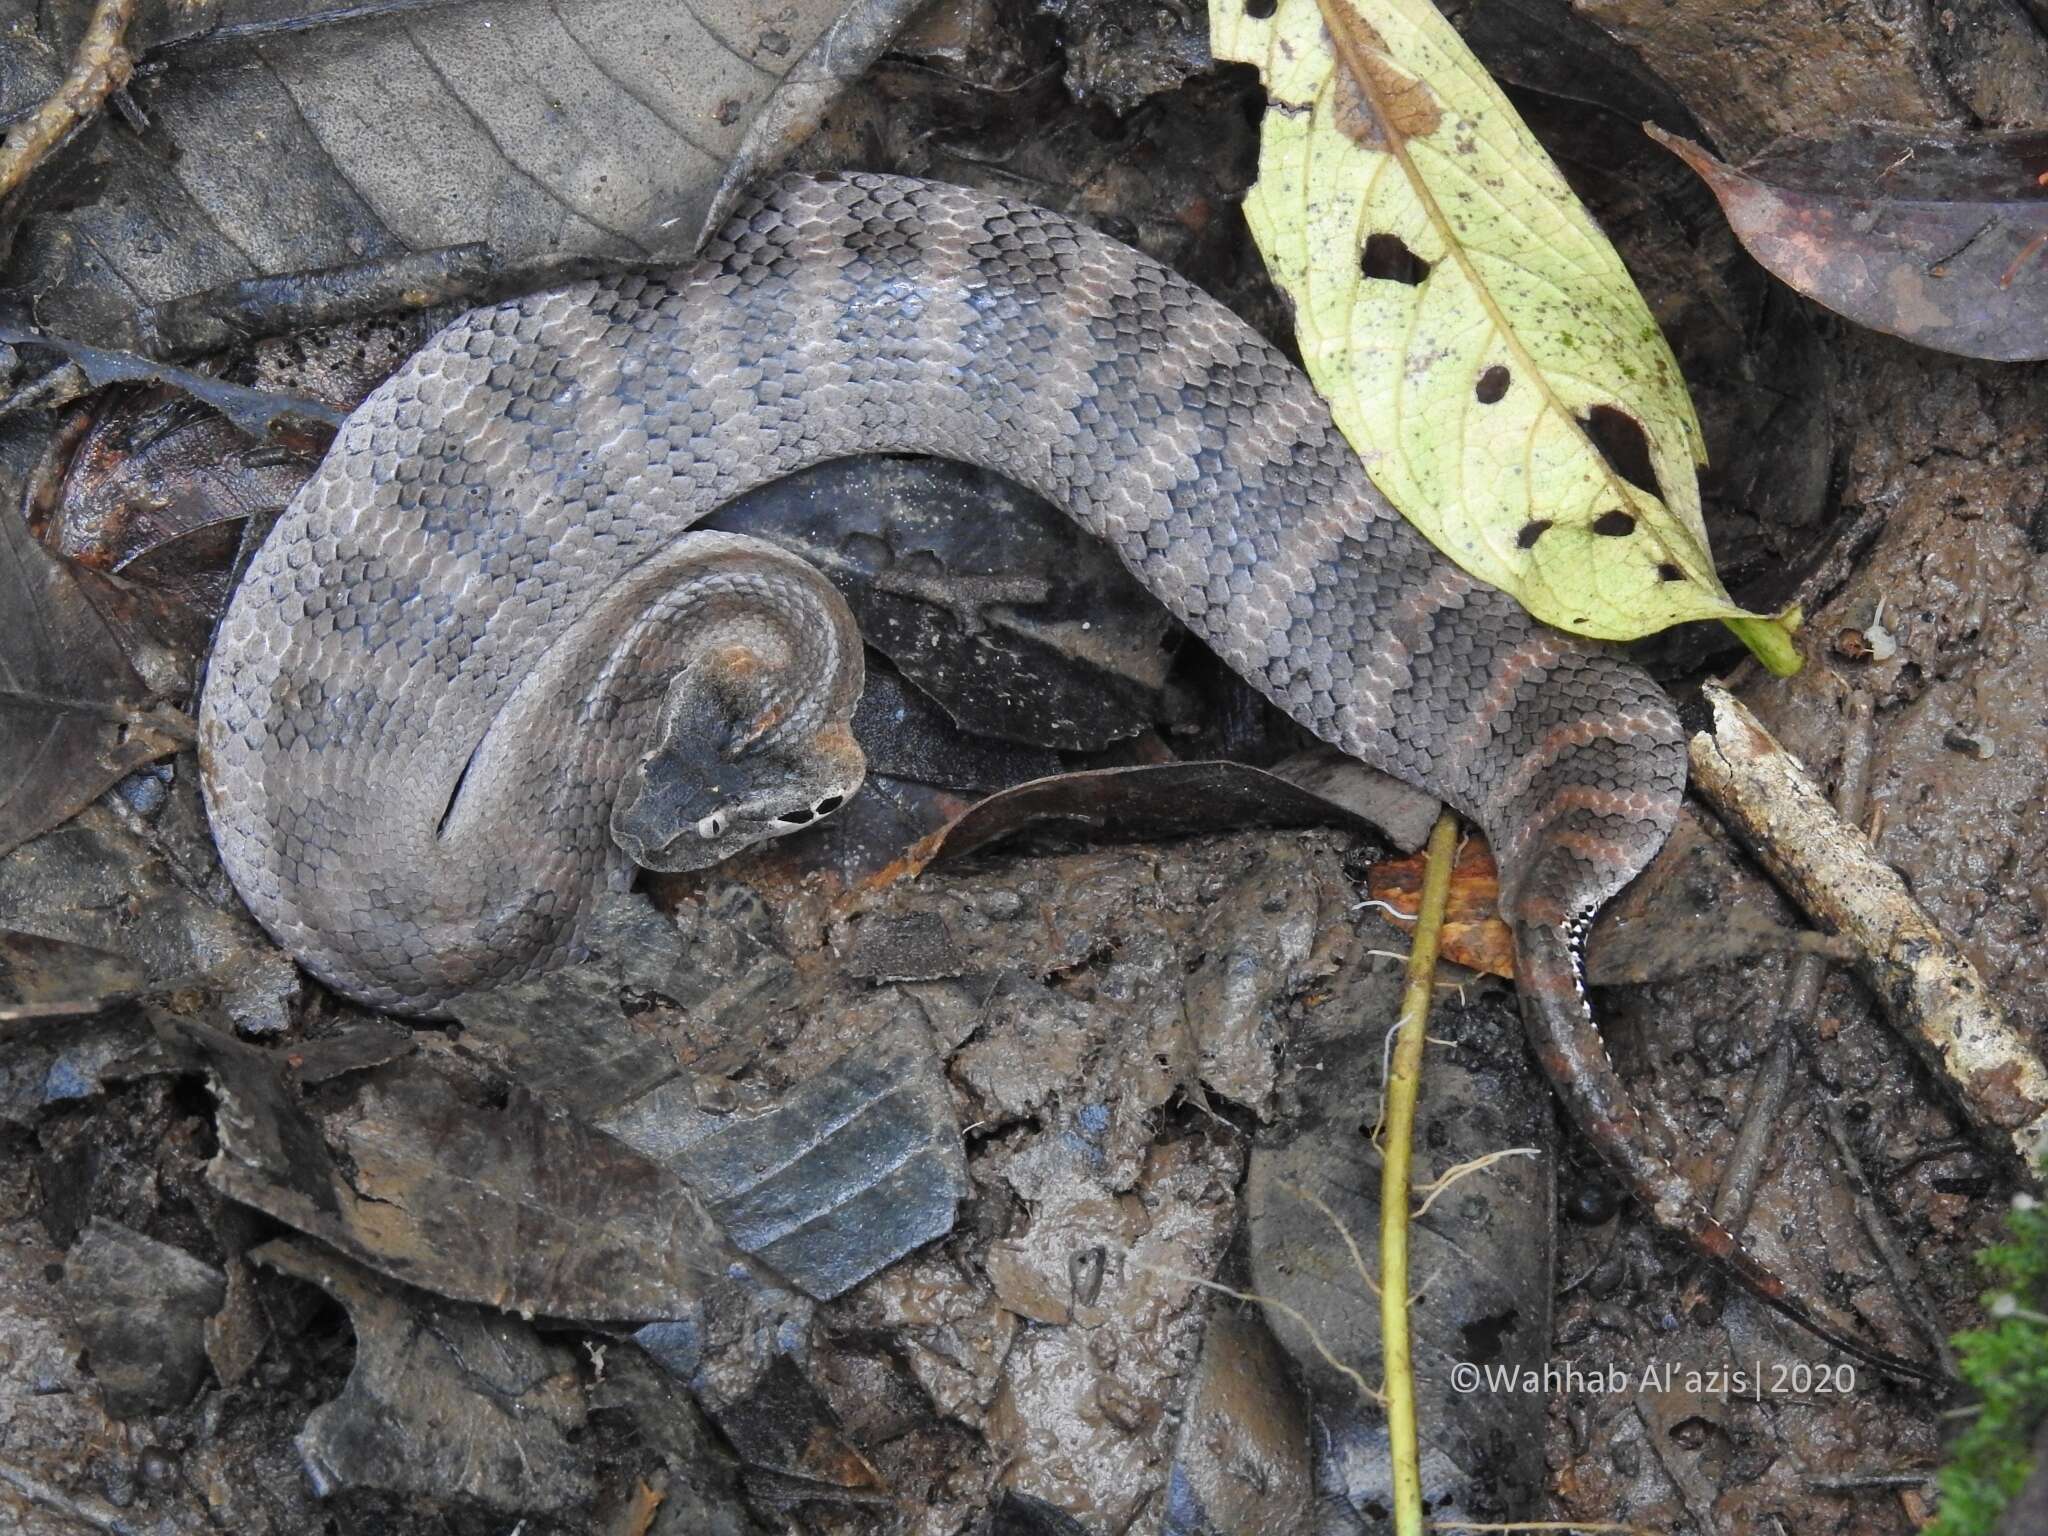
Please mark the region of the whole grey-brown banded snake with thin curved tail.
[[1298, 725], [1473, 819], [1581, 1133], [1767, 1305], [1923, 1374], [1806, 1315], [1700, 1208], [1599, 1042], [1587, 926], [1686, 793], [1665, 692], [1440, 555], [1221, 301], [1030, 203], [782, 176], [688, 268], [475, 309], [401, 365], [209, 659], [201, 778], [250, 911], [330, 987], [424, 1016], [571, 958], [635, 868], [709, 868], [844, 805], [846, 602], [692, 524], [864, 453], [1034, 489]]

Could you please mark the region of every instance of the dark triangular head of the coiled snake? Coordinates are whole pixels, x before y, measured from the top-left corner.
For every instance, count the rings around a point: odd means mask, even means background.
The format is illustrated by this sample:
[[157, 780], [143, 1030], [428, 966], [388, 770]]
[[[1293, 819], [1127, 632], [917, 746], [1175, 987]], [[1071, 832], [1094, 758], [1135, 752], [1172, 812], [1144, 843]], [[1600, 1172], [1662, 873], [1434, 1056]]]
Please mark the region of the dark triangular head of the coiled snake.
[[831, 815], [860, 788], [866, 758], [846, 721], [778, 729], [786, 707], [733, 664], [680, 674], [655, 745], [612, 803], [612, 842], [641, 868], [711, 868]]

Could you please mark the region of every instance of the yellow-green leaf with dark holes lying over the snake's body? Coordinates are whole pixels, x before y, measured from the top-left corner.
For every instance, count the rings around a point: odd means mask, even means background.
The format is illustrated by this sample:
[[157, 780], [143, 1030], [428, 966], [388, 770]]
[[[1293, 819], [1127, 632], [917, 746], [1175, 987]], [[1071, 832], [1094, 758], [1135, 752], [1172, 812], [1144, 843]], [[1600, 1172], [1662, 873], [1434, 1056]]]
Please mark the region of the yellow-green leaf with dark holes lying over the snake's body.
[[[1257, 12], [1268, 14], [1257, 14]], [[1450, 559], [1579, 635], [1784, 629], [1714, 575], [1677, 360], [1622, 258], [1430, 0], [1210, 0], [1268, 109], [1245, 197], [1303, 360]]]

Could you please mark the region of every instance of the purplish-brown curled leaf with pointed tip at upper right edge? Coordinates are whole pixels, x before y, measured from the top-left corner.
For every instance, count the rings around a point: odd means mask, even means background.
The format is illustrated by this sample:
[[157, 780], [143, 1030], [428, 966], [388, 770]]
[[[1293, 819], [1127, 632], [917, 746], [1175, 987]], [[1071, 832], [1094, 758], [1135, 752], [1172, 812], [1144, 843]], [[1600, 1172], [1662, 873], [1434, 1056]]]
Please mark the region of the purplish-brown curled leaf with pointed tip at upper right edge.
[[1763, 266], [1860, 326], [1997, 362], [2048, 358], [2048, 133], [1860, 125], [1729, 166], [1645, 123]]

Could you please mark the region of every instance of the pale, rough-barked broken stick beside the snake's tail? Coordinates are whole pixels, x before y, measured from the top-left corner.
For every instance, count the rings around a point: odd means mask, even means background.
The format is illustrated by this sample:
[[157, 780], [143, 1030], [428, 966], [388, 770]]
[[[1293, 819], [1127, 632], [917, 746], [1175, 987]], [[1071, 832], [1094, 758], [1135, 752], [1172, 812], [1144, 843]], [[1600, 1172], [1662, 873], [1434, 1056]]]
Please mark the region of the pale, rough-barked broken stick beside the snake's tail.
[[1724, 688], [1704, 692], [1714, 727], [1692, 737], [1694, 786], [1817, 924], [1855, 944], [1892, 1026], [1954, 1083], [1972, 1124], [2032, 1169], [2048, 1151], [2048, 1067], [1798, 758]]

